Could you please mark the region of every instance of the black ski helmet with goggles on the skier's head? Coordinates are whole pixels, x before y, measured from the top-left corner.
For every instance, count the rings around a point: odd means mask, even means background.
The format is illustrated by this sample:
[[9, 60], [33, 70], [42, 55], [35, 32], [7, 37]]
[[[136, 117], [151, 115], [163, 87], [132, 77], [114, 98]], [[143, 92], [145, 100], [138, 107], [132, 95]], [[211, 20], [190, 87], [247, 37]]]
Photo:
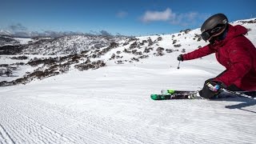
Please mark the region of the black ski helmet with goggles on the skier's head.
[[214, 14], [206, 19], [201, 26], [201, 37], [205, 41], [210, 41], [211, 38], [216, 37], [226, 30], [228, 19], [224, 14]]

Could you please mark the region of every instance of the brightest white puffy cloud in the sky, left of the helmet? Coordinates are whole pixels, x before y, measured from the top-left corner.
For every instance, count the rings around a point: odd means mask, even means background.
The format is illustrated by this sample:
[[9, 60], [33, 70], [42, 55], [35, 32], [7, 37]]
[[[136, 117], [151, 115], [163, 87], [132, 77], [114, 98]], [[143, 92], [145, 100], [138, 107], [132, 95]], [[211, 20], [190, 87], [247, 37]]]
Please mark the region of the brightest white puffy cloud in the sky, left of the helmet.
[[172, 13], [170, 8], [167, 8], [164, 11], [146, 11], [142, 16], [142, 22], [154, 22], [154, 21], [168, 21], [171, 18], [174, 18], [175, 14]]

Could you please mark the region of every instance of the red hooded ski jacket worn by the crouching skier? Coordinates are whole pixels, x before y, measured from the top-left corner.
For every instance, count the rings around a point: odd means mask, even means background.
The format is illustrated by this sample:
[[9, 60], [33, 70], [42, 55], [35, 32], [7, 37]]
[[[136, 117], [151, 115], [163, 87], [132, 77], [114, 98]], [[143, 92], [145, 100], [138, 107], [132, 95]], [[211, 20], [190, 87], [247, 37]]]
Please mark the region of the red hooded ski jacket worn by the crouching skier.
[[231, 26], [222, 41], [203, 46], [188, 54], [183, 54], [184, 60], [201, 58], [215, 53], [215, 56], [226, 72], [215, 81], [226, 86], [234, 84], [242, 90], [256, 90], [256, 48], [244, 34], [247, 30], [243, 26]]

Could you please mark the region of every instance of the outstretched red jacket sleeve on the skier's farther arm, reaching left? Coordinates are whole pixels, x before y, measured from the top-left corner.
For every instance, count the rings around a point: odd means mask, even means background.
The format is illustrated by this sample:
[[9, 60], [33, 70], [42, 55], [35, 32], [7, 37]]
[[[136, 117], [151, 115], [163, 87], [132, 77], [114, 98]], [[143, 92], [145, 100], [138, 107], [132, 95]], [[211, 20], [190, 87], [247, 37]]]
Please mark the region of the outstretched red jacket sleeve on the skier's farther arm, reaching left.
[[183, 60], [190, 60], [195, 58], [202, 58], [206, 55], [213, 54], [215, 51], [214, 49], [210, 48], [210, 45], [203, 46], [202, 48], [199, 48], [198, 50], [194, 50], [188, 54], [183, 54]]

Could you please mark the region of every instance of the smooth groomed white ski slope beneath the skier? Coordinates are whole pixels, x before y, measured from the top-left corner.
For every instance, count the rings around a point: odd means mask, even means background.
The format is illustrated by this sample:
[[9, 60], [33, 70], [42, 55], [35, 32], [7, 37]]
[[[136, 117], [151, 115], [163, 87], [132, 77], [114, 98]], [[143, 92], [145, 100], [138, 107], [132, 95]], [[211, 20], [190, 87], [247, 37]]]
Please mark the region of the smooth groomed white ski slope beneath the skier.
[[[252, 28], [248, 37], [255, 45]], [[171, 35], [162, 38], [159, 46], [172, 46]], [[182, 44], [187, 40], [181, 39]], [[198, 43], [186, 43], [186, 50]], [[24, 86], [0, 87], [0, 142], [255, 143], [255, 99], [150, 99], [162, 89], [199, 90], [224, 70], [214, 55], [182, 62], [178, 70], [178, 54], [122, 65], [108, 61], [98, 70], [70, 70]]]

